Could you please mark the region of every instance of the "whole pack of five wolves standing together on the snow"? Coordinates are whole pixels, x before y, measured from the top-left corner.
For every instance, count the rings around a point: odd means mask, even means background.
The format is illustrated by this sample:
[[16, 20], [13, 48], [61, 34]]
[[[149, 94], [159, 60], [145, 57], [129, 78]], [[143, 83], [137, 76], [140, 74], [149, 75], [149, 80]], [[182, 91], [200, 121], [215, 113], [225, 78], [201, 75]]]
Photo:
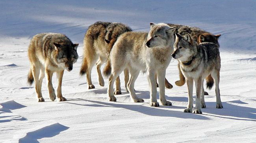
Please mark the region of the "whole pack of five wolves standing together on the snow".
[[[221, 58], [218, 39], [214, 35], [197, 27], [178, 24], [150, 23], [149, 32], [135, 32], [122, 23], [96, 22], [89, 26], [83, 39], [83, 61], [80, 75], [86, 75], [87, 88], [94, 89], [91, 80], [93, 66], [96, 65], [98, 84], [104, 86], [101, 66], [106, 63], [103, 75], [108, 77], [108, 100], [117, 101], [115, 95], [122, 94], [119, 75], [124, 71], [126, 91], [134, 102], [144, 102], [135, 94], [134, 84], [140, 72], [147, 73], [150, 85], [150, 101], [152, 107], [159, 107], [159, 102], [171, 106], [165, 98], [165, 87], [173, 85], [165, 78], [166, 69], [171, 59], [178, 60], [180, 79], [177, 86], [187, 83], [188, 104], [184, 112], [202, 114], [206, 108], [204, 101], [204, 80], [211, 89], [215, 84], [216, 108], [223, 108], [220, 98], [219, 81]], [[52, 85], [52, 75], [56, 72], [57, 99], [67, 101], [62, 96], [61, 83], [64, 70], [71, 71], [73, 63], [78, 59], [78, 43], [60, 33], [40, 33], [33, 36], [28, 47], [30, 69], [28, 83], [35, 84], [38, 102], [45, 101], [42, 92], [42, 81], [46, 84], [50, 100], [56, 100]], [[115, 89], [114, 89], [115, 82]], [[195, 82], [195, 108], [193, 109], [193, 83]]]

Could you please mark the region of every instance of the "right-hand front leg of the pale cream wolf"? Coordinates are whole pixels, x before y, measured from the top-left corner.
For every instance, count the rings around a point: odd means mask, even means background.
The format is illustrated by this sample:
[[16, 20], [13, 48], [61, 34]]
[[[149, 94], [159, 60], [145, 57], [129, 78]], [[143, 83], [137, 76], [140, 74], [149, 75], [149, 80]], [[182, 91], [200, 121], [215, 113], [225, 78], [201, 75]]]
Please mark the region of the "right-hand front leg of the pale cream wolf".
[[165, 69], [157, 71], [158, 83], [159, 83], [159, 97], [162, 105], [171, 106], [172, 103], [165, 98]]

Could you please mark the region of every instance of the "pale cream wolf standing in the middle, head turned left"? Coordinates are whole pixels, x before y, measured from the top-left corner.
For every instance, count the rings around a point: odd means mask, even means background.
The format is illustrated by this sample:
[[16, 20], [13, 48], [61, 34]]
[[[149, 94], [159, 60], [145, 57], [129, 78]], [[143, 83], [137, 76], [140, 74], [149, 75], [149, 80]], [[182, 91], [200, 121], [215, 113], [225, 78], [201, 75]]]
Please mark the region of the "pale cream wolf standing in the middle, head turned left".
[[171, 61], [173, 52], [175, 27], [167, 24], [150, 23], [150, 31], [126, 32], [122, 34], [110, 52], [111, 74], [109, 76], [108, 99], [116, 101], [113, 94], [113, 81], [124, 70], [128, 69], [130, 78], [127, 83], [130, 98], [134, 102], [144, 102], [134, 92], [134, 82], [139, 72], [147, 72], [150, 83], [150, 106], [158, 107], [156, 99], [157, 74], [160, 87], [160, 102], [162, 105], [172, 105], [165, 99], [165, 70]]

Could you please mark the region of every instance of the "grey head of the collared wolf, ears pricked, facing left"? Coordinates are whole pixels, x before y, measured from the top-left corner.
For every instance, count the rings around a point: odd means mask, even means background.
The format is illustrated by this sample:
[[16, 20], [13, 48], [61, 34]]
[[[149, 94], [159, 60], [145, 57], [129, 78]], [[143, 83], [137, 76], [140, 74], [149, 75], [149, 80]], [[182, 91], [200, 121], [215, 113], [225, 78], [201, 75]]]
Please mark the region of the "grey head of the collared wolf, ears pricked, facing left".
[[175, 33], [176, 39], [174, 42], [174, 51], [172, 57], [174, 59], [179, 59], [181, 62], [186, 62], [197, 53], [197, 46], [191, 39], [189, 33], [181, 36]]

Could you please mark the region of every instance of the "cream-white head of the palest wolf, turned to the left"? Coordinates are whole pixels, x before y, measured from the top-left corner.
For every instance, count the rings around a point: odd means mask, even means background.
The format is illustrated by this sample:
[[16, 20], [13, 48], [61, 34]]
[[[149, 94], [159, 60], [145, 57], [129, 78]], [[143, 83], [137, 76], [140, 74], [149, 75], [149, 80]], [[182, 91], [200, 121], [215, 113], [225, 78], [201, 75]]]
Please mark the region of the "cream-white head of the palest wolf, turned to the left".
[[176, 27], [170, 27], [167, 24], [150, 23], [150, 31], [148, 33], [147, 42], [148, 48], [151, 47], [173, 47], [174, 31]]

